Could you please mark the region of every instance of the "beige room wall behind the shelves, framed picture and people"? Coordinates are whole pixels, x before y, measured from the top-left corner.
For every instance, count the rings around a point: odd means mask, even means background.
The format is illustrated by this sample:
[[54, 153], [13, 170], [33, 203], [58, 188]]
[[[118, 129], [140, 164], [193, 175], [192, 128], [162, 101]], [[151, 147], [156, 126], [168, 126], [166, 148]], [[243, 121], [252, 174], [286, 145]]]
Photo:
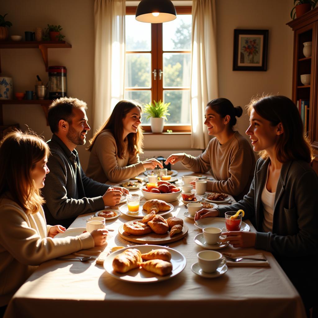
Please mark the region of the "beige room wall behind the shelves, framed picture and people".
[[[2, 3], [2, 13], [13, 23], [10, 35], [24, 35], [35, 27], [61, 24], [71, 49], [50, 49], [49, 65], [67, 67], [68, 95], [85, 100], [87, 116], [92, 114], [93, 88], [93, 0], [10, 0]], [[290, 0], [216, 0], [218, 28], [219, 95], [230, 99], [235, 106], [244, 106], [256, 93], [280, 93], [291, 96], [293, 32], [289, 21]], [[269, 29], [267, 72], [233, 72], [233, 29]], [[36, 75], [46, 82], [41, 53], [38, 49], [1, 50], [1, 75], [13, 78], [15, 92], [34, 89]], [[3, 106], [4, 123], [27, 124], [46, 139], [51, 137], [40, 106]], [[247, 116], [238, 121], [244, 134]], [[91, 137], [91, 133], [88, 136]], [[145, 149], [189, 149], [190, 135], [145, 136]], [[88, 153], [78, 148], [85, 169]]]

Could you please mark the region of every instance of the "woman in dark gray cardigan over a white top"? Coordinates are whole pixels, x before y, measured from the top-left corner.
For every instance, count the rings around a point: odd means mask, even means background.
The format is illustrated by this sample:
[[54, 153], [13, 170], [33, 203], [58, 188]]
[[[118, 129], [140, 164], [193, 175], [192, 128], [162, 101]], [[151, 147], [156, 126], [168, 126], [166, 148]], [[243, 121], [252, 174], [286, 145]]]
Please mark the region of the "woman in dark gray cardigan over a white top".
[[306, 310], [316, 289], [318, 177], [309, 163], [313, 153], [303, 135], [295, 104], [284, 96], [268, 96], [249, 106], [250, 136], [260, 158], [249, 193], [228, 207], [203, 209], [195, 220], [224, 217], [226, 211], [245, 211], [255, 218], [254, 232], [225, 232], [234, 247], [272, 252], [297, 288]]

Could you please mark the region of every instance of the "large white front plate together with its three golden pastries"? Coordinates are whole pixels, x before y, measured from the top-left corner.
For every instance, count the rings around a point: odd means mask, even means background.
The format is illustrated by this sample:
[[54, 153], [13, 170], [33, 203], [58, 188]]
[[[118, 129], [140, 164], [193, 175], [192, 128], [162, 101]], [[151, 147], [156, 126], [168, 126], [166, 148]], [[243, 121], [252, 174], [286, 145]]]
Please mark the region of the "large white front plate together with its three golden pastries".
[[158, 245], [136, 245], [109, 254], [104, 261], [108, 274], [134, 283], [155, 283], [181, 273], [185, 257], [178, 251]]

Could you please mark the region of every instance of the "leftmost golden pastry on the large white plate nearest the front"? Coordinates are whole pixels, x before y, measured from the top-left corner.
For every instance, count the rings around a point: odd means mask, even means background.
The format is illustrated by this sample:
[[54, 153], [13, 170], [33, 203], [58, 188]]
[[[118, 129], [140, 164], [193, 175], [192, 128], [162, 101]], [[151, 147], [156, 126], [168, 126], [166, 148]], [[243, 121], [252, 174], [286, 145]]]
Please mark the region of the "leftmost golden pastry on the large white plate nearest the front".
[[118, 273], [126, 273], [131, 269], [139, 267], [141, 262], [141, 252], [135, 248], [128, 248], [128, 250], [115, 256], [113, 269]]

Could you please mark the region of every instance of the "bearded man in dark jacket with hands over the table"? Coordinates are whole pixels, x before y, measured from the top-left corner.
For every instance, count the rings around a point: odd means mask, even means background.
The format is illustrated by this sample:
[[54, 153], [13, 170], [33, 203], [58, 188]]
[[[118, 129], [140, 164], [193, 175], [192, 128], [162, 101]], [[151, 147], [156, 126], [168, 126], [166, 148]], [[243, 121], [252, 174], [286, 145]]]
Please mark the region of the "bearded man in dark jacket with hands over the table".
[[105, 206], [119, 204], [122, 187], [111, 187], [88, 178], [75, 150], [84, 145], [87, 131], [86, 103], [77, 98], [62, 97], [49, 107], [48, 122], [53, 133], [47, 142], [51, 156], [47, 166], [42, 194], [47, 224], [61, 224], [66, 228], [74, 219], [85, 213], [103, 210]]

